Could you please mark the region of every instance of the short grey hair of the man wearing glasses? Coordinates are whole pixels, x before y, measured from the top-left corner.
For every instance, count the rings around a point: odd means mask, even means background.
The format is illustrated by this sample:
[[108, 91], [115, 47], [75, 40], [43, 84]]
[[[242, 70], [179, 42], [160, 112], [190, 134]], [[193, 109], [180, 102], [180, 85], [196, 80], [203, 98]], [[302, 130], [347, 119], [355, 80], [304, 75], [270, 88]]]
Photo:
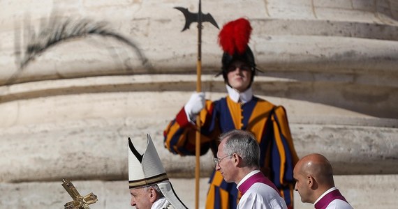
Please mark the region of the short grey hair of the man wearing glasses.
[[221, 134], [220, 141], [226, 140], [224, 153], [233, 155], [236, 153], [242, 157], [246, 167], [258, 169], [260, 167], [260, 146], [251, 132], [244, 130], [231, 130]]

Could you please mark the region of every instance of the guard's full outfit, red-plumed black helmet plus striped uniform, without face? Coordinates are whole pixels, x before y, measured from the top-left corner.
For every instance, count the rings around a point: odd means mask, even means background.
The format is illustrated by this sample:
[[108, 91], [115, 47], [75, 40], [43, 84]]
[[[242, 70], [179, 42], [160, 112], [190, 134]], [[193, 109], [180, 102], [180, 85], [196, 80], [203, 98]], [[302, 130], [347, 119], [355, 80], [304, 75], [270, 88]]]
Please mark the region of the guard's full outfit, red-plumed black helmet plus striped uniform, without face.
[[[246, 37], [236, 38], [236, 31], [246, 31]], [[200, 154], [203, 155], [211, 149], [216, 156], [219, 135], [223, 132], [233, 129], [252, 132], [260, 145], [261, 171], [277, 186], [287, 206], [293, 208], [293, 168], [298, 157], [293, 147], [285, 109], [254, 96], [250, 86], [246, 91], [238, 92], [228, 84], [228, 66], [235, 60], [251, 65], [253, 82], [253, 76], [258, 69], [247, 45], [250, 33], [249, 21], [241, 18], [224, 25], [219, 34], [219, 42], [224, 51], [221, 73], [227, 84], [228, 96], [216, 101], [207, 100], [205, 108], [200, 111]], [[195, 155], [196, 125], [192, 119], [184, 107], [166, 127], [164, 142], [170, 152]], [[241, 194], [235, 183], [226, 183], [219, 171], [212, 173], [209, 183], [206, 208], [236, 208]]]

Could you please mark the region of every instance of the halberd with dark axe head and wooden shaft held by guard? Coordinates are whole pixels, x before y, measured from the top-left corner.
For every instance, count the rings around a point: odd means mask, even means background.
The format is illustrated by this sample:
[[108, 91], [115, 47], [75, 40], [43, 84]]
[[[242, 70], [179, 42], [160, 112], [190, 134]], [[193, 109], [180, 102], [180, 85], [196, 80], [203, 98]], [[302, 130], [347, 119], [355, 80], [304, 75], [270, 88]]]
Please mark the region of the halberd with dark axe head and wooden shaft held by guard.
[[[175, 7], [177, 10], [180, 10], [185, 16], [185, 25], [182, 31], [189, 29], [189, 26], [192, 22], [198, 22], [198, 60], [196, 62], [196, 92], [202, 91], [200, 76], [202, 75], [202, 22], [210, 22], [217, 29], [219, 26], [217, 25], [216, 21], [210, 15], [202, 14], [202, 3], [199, 0], [199, 10], [198, 13], [190, 13], [187, 8], [182, 7]], [[195, 168], [195, 208], [199, 208], [199, 179], [200, 179], [200, 116], [198, 115], [196, 118], [196, 168]]]

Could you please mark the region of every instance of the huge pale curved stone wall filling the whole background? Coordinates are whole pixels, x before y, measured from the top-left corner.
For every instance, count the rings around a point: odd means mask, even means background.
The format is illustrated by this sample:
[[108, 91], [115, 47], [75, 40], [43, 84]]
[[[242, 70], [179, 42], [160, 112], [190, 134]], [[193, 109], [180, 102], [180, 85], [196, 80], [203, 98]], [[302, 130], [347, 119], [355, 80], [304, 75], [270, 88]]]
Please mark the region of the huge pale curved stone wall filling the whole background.
[[[196, 12], [198, 1], [0, 1], [2, 193], [24, 196], [20, 188], [31, 185], [59, 193], [62, 178], [93, 189], [112, 185], [109, 180], [119, 185], [127, 180], [127, 137], [143, 146], [147, 132], [169, 176], [192, 183], [194, 157], [172, 155], [162, 138], [196, 88], [196, 25], [181, 32], [184, 16], [175, 6]], [[364, 175], [383, 179], [376, 191], [383, 192], [386, 182], [397, 189], [398, 3], [204, 1], [202, 10], [219, 26], [238, 17], [251, 20], [250, 46], [263, 70], [254, 93], [286, 107], [300, 157], [322, 153], [337, 175], [356, 175], [339, 177], [343, 188], [354, 180], [350, 189], [360, 191]], [[84, 23], [102, 35], [67, 38], [30, 53], [50, 37], [46, 26], [71, 32]], [[214, 77], [222, 53], [218, 32], [204, 24], [202, 88], [212, 100], [225, 95], [222, 78]], [[202, 157], [204, 179], [213, 169], [211, 158]], [[120, 194], [115, 188], [103, 195]], [[350, 197], [366, 202], [366, 196]], [[19, 201], [17, 208], [31, 202], [4, 196], [0, 208], [8, 199]], [[45, 202], [40, 208], [64, 203], [34, 199]], [[354, 201], [354, 208], [363, 208], [363, 201]], [[101, 204], [97, 208], [110, 207]]]

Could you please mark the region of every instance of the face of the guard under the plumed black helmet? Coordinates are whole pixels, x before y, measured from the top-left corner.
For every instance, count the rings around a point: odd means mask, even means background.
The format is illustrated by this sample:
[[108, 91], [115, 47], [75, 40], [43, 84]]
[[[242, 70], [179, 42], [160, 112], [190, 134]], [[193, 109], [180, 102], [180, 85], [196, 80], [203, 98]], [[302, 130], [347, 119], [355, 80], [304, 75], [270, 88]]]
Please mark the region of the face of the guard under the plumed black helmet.
[[242, 61], [233, 61], [228, 67], [228, 84], [239, 92], [249, 88], [251, 82], [251, 67]]

